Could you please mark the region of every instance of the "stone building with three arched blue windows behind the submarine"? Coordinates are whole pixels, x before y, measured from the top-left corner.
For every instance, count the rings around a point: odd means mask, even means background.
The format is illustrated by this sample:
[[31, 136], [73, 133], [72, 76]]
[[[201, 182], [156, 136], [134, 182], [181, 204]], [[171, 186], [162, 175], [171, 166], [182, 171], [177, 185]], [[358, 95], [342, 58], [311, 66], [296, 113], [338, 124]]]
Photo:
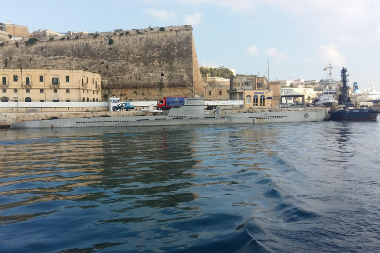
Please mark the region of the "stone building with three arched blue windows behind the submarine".
[[230, 79], [230, 100], [244, 100], [244, 108], [272, 107], [273, 91], [268, 80], [257, 76], [233, 76]]

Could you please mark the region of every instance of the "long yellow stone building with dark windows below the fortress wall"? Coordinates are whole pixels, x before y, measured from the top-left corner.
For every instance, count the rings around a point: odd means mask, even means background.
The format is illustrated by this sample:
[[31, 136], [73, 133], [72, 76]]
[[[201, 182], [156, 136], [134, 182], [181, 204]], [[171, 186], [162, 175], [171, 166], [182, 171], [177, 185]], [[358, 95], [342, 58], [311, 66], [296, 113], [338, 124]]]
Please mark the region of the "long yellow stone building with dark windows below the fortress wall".
[[0, 68], [1, 102], [101, 101], [100, 74], [78, 69]]

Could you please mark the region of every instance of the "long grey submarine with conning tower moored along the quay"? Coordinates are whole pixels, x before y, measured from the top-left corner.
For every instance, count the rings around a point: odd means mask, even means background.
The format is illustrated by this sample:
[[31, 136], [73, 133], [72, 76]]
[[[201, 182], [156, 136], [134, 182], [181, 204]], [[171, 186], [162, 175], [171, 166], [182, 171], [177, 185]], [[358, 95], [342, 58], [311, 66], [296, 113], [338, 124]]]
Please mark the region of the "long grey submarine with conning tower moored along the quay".
[[[265, 111], [266, 110], [266, 111]], [[56, 127], [144, 127], [178, 125], [259, 124], [323, 121], [325, 108], [297, 108], [275, 111], [273, 108], [251, 113], [215, 113], [205, 110], [204, 98], [186, 98], [183, 106], [173, 106], [158, 116], [72, 118], [12, 123], [10, 128]]]

